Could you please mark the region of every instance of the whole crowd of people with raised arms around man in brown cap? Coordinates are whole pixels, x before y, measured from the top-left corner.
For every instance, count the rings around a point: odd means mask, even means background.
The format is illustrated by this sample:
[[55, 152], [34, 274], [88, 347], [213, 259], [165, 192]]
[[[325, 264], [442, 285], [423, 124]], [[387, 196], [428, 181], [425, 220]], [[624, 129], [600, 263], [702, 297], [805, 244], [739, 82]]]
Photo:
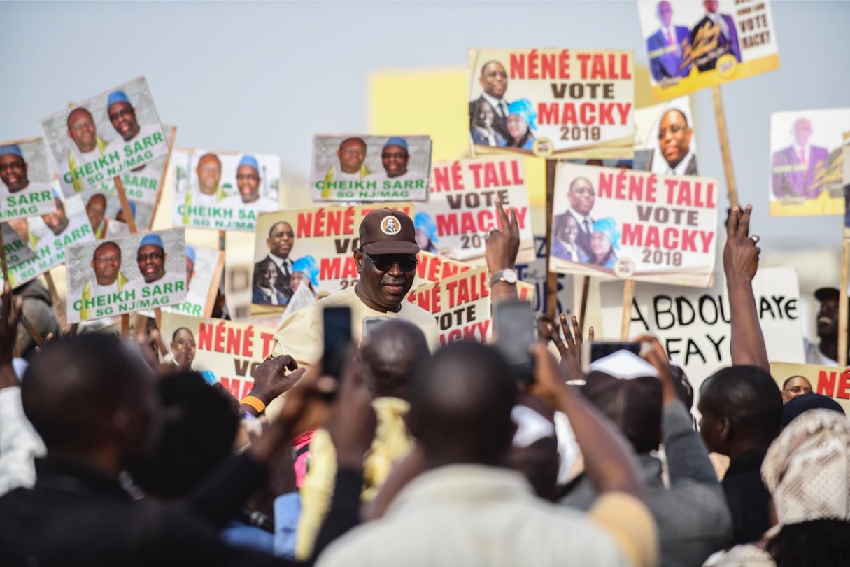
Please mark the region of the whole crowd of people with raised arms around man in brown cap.
[[[493, 303], [517, 298], [519, 249], [496, 208]], [[405, 301], [420, 247], [393, 209], [360, 225], [357, 285], [283, 320], [241, 400], [191, 371], [187, 329], [167, 362], [156, 329], [16, 359], [27, 309], [7, 284], [0, 564], [846, 564], [850, 422], [805, 377], [770, 374], [750, 215], [728, 218], [733, 364], [701, 384], [699, 424], [655, 337], [585, 373], [580, 321], [543, 319], [530, 385], [498, 343], [439, 348]], [[278, 266], [258, 269], [273, 288]], [[338, 377], [322, 371], [332, 306], [353, 316]], [[719, 476], [710, 451], [728, 456]]]

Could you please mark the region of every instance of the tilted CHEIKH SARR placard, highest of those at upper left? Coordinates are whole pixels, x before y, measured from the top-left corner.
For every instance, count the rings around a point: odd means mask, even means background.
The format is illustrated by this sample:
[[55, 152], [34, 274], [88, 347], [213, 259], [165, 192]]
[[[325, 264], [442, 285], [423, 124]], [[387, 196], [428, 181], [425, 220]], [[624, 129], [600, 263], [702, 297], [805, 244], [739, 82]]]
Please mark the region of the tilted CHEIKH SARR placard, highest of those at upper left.
[[168, 153], [168, 139], [144, 77], [42, 120], [66, 196], [130, 173]]

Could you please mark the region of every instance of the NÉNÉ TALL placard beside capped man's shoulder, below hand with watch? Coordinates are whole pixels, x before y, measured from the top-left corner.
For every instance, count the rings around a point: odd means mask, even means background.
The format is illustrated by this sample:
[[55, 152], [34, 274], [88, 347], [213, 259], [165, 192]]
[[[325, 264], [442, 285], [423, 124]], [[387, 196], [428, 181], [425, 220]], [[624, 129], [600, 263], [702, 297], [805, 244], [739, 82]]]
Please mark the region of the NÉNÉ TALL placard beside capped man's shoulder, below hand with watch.
[[[417, 287], [407, 295], [407, 300], [437, 320], [440, 346], [461, 340], [484, 343], [492, 335], [489, 282], [486, 268], [469, 269]], [[519, 282], [517, 292], [520, 299], [534, 299], [534, 286]]]

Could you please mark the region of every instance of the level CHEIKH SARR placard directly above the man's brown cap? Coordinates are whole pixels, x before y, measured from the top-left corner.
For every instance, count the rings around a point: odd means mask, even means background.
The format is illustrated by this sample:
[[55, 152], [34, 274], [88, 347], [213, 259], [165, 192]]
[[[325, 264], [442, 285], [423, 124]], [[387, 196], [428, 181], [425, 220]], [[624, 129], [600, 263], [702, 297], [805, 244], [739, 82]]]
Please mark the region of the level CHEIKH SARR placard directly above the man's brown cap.
[[425, 201], [431, 170], [428, 136], [317, 134], [313, 201]]

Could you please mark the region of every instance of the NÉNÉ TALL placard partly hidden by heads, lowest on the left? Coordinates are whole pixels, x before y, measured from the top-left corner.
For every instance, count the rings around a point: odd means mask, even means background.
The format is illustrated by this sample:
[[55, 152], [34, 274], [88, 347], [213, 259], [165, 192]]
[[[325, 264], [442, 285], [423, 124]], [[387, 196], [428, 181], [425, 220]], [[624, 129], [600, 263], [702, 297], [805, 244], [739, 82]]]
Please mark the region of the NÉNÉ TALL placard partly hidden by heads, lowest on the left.
[[205, 375], [212, 373], [215, 381], [236, 400], [251, 391], [257, 366], [275, 346], [275, 329], [230, 320], [197, 319], [163, 312], [160, 331], [166, 343], [173, 343], [178, 331], [190, 333], [195, 342], [190, 367]]

